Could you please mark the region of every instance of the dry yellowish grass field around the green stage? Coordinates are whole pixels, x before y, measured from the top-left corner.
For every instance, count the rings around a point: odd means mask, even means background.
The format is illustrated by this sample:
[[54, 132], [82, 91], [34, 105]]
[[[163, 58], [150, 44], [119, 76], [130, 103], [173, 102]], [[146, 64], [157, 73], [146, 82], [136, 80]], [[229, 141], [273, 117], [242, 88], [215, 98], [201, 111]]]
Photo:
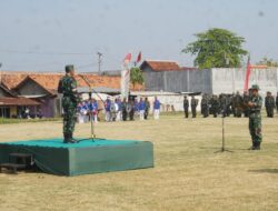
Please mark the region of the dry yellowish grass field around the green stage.
[[[99, 123], [97, 134], [155, 144], [153, 169], [80, 177], [0, 174], [0, 210], [278, 210], [278, 118], [264, 119], [261, 151], [249, 151], [248, 119], [163, 115], [160, 121]], [[78, 124], [77, 137], [88, 137]], [[0, 125], [0, 141], [56, 138], [61, 122]]]

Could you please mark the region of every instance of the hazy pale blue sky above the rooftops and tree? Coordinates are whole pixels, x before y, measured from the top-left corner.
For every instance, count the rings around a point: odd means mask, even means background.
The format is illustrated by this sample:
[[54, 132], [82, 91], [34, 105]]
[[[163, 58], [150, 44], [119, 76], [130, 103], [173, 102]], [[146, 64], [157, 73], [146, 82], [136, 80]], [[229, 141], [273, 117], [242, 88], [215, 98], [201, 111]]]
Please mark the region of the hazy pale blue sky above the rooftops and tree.
[[173, 60], [195, 33], [224, 28], [246, 38], [251, 62], [278, 60], [278, 0], [0, 0], [0, 63], [4, 71], [119, 70], [132, 59]]

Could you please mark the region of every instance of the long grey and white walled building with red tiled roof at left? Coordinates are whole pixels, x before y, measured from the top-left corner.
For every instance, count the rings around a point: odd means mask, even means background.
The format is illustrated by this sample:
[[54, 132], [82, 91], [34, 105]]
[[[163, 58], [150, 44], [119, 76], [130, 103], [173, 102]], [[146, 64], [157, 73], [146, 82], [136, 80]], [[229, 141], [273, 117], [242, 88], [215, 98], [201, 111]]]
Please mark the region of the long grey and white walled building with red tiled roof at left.
[[[179, 67], [173, 61], [146, 60], [140, 66], [145, 76], [146, 91], [202, 92], [209, 94], [244, 92], [246, 68], [208, 69]], [[278, 91], [277, 68], [254, 68], [249, 84], [257, 83], [262, 96]]]

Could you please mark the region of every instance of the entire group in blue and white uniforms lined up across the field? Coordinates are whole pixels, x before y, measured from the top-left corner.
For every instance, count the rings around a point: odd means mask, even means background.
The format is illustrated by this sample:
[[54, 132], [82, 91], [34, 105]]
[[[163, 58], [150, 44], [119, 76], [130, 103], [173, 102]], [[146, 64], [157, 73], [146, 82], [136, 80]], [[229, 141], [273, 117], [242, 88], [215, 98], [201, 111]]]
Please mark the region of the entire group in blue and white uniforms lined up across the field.
[[[158, 120], [160, 115], [160, 101], [155, 97], [155, 101], [150, 104], [148, 98], [137, 98], [121, 100], [120, 97], [108, 97], [103, 102], [105, 121], [133, 121], [136, 118], [139, 120], [147, 120], [152, 105], [153, 119]], [[78, 104], [78, 121], [85, 123], [88, 121], [98, 122], [99, 112], [98, 102], [96, 99], [86, 100]]]

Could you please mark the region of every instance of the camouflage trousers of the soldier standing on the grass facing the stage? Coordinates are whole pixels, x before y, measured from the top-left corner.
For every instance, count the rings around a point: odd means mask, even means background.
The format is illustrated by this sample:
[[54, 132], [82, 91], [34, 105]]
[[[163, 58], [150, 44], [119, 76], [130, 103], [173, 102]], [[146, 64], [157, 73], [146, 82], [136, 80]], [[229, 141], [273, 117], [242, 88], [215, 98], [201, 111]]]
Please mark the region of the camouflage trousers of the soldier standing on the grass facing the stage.
[[250, 113], [249, 132], [250, 132], [251, 139], [255, 143], [262, 141], [260, 113]]

